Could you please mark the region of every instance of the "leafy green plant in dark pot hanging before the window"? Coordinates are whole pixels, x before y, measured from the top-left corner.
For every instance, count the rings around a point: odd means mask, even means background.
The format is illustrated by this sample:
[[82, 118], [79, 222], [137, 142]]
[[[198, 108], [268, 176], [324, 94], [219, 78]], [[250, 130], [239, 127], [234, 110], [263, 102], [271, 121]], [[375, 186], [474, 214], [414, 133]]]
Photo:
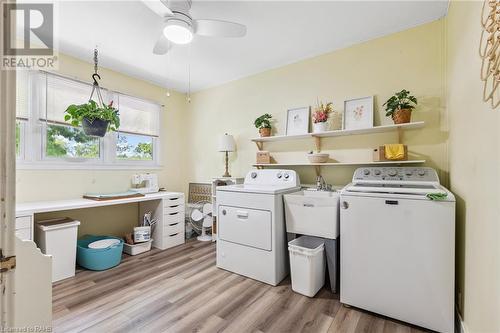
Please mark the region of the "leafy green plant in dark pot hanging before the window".
[[82, 126], [85, 134], [103, 137], [108, 131], [116, 131], [120, 127], [118, 109], [109, 104], [99, 105], [94, 100], [88, 103], [68, 106], [65, 121], [73, 126]]

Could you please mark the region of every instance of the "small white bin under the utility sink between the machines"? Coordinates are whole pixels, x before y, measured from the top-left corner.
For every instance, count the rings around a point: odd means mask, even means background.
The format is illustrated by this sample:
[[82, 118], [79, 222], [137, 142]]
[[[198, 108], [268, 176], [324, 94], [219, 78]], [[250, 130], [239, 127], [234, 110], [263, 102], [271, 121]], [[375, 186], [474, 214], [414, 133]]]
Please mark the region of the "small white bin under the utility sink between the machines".
[[288, 243], [292, 290], [313, 297], [325, 284], [325, 245], [319, 237], [301, 236]]

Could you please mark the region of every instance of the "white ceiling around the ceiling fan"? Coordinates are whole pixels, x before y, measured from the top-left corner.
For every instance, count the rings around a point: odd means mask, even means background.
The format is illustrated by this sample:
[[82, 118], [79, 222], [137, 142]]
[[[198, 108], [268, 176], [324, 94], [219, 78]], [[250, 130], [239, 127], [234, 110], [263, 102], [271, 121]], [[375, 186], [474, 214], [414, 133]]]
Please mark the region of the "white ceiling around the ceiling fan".
[[[162, 19], [140, 1], [58, 3], [61, 52], [174, 90], [202, 90], [446, 15], [448, 1], [193, 1], [193, 18], [235, 21], [244, 38], [196, 36], [152, 53]], [[56, 36], [57, 37], [57, 36]]]

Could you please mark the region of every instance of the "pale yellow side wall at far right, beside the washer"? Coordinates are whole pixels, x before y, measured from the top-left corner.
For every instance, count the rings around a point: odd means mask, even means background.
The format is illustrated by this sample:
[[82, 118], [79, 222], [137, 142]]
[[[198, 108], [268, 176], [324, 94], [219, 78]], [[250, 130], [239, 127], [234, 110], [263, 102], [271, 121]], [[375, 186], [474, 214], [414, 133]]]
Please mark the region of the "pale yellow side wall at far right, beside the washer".
[[447, 21], [450, 185], [457, 197], [457, 289], [468, 332], [500, 332], [500, 110], [482, 101], [482, 2], [453, 1]]

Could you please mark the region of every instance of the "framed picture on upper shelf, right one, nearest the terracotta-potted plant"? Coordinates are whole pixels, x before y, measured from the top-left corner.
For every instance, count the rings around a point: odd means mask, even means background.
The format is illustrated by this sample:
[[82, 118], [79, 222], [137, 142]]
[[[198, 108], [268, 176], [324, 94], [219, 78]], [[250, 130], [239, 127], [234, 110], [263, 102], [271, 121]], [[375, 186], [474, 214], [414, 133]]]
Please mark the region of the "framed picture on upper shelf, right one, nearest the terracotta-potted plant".
[[373, 96], [344, 102], [344, 129], [373, 127]]

